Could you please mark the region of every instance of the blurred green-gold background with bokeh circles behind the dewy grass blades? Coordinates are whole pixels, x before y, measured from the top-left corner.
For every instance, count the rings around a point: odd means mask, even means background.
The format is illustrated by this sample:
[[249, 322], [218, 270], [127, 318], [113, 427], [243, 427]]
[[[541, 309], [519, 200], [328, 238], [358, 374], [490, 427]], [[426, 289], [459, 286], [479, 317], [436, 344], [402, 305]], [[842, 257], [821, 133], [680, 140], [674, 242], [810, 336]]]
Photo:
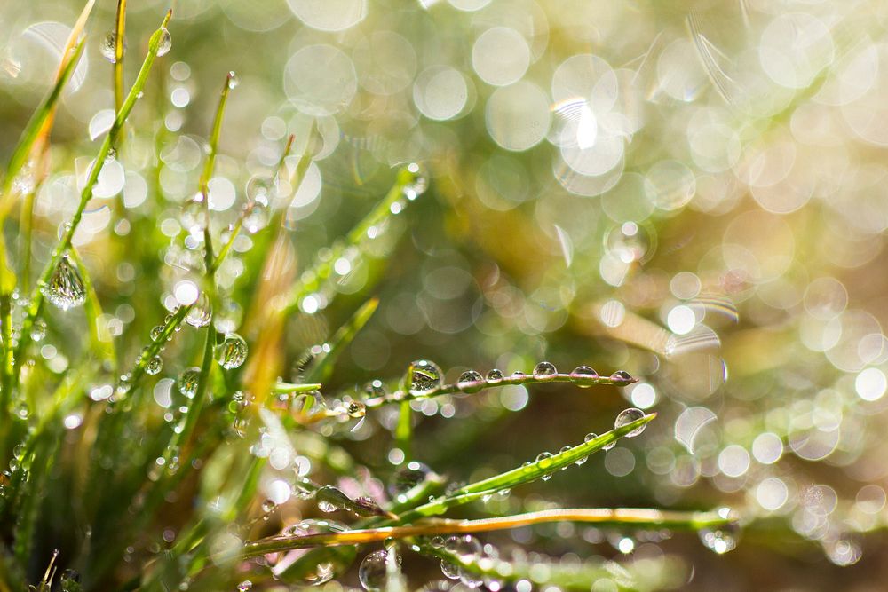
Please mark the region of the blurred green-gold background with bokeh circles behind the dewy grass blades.
[[[128, 84], [168, 7], [128, 6]], [[121, 351], [136, 355], [173, 305], [171, 270], [184, 255], [170, 237], [234, 70], [210, 181], [218, 228], [237, 217], [250, 179], [274, 170], [289, 134], [306, 150], [312, 126], [314, 160], [287, 211], [300, 265], [383, 197], [393, 166], [428, 171], [428, 191], [392, 218], [399, 232], [374, 242], [371, 257], [345, 260], [332, 291], [306, 298], [289, 325], [295, 356], [379, 296], [331, 392], [397, 377], [417, 358], [437, 362], [448, 382], [470, 368], [529, 372], [543, 359], [562, 372], [625, 369], [640, 380], [624, 389], [515, 386], [426, 400], [416, 406], [416, 456], [471, 480], [580, 442], [639, 407], [659, 414], [643, 437], [486, 511], [727, 506], [744, 519], [724, 555], [694, 533], [663, 539], [573, 525], [485, 540], [567, 561], [678, 556], [690, 568], [687, 589], [881, 588], [888, 5], [172, 7], [172, 49], [75, 235]], [[0, 3], [4, 160], [51, 87], [81, 9], [75, 0]], [[97, 5], [53, 131], [52, 173], [35, 210], [44, 260], [113, 120], [103, 44], [114, 13], [115, 3]], [[133, 264], [119, 237], [139, 218], [155, 232], [139, 248], [145, 262]], [[246, 254], [250, 237], [243, 241], [234, 250]], [[236, 290], [255, 264], [232, 257], [222, 288]], [[238, 302], [227, 312], [231, 328], [242, 322]], [[54, 351], [44, 356], [59, 371], [83, 347], [71, 337], [76, 322], [51, 323]], [[384, 480], [399, 462], [385, 434], [393, 421], [382, 410], [338, 436]]]

